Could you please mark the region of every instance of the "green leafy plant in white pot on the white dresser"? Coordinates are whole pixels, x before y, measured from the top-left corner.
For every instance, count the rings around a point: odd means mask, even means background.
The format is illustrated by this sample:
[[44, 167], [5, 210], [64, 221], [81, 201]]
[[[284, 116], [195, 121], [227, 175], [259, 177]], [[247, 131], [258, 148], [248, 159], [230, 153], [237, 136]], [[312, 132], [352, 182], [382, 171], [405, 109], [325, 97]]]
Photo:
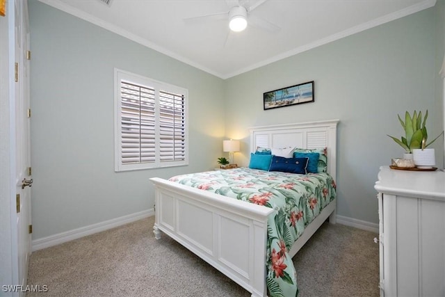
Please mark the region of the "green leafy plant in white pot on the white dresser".
[[[414, 159], [414, 151], [416, 151], [416, 156], [419, 155], [419, 150], [422, 152], [420, 154], [428, 154], [432, 155], [434, 157], [434, 149], [428, 149], [426, 150], [426, 147], [428, 147], [430, 144], [434, 143], [437, 138], [439, 138], [442, 134], [444, 134], [444, 131], [442, 131], [439, 136], [434, 138], [430, 143], [427, 143], [428, 140], [428, 131], [426, 129], [426, 119], [428, 118], [428, 110], [425, 113], [425, 117], [422, 119], [422, 112], [419, 111], [419, 114], [417, 114], [416, 111], [410, 115], [408, 111], [405, 112], [405, 122], [401, 119], [400, 115], [398, 116], [399, 122], [401, 122], [401, 125], [403, 129], [405, 130], [405, 137], [402, 136], [401, 139], [398, 139], [394, 136], [390, 136], [398, 145], [401, 145], [405, 149], [404, 158], [405, 159]], [[431, 151], [432, 150], [432, 151]], [[435, 165], [434, 160], [428, 161], [430, 166]], [[416, 163], [416, 160], [414, 159], [414, 164], [418, 165]], [[421, 165], [421, 164], [419, 164]], [[419, 166], [418, 166], [419, 167]]]

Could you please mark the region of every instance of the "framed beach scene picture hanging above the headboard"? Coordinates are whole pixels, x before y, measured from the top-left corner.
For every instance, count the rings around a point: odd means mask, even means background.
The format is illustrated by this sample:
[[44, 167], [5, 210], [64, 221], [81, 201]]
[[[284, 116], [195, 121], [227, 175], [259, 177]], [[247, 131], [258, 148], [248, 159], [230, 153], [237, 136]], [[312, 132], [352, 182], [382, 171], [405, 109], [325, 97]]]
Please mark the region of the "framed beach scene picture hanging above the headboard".
[[314, 81], [263, 93], [264, 110], [314, 102]]

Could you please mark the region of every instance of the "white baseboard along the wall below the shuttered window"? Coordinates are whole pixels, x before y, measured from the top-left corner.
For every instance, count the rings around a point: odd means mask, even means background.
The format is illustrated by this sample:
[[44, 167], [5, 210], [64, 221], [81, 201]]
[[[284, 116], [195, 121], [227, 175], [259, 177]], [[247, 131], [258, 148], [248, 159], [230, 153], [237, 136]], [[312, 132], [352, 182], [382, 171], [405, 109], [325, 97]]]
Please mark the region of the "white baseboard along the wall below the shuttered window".
[[60, 243], [72, 241], [73, 239], [79, 239], [83, 236], [95, 234], [97, 232], [102, 232], [114, 227], [119, 227], [121, 225], [134, 222], [135, 220], [148, 218], [149, 216], [154, 216], [154, 209], [139, 211], [134, 214], [129, 214], [127, 216], [121, 216], [119, 218], [105, 220], [104, 222], [96, 223], [85, 227], [80, 227], [59, 234], [54, 234], [51, 236], [43, 237], [41, 239], [35, 239], [32, 241], [32, 250], [35, 251], [35, 250], [41, 250], [42, 248], [49, 248], [50, 246], [56, 246]]

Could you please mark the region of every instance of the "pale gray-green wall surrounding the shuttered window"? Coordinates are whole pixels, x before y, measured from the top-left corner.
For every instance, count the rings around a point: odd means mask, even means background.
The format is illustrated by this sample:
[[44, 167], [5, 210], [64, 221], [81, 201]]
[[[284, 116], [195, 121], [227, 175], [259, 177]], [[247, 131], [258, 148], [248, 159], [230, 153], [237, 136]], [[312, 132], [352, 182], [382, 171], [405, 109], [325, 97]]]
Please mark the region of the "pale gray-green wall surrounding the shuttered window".
[[[33, 239], [152, 209], [149, 177], [216, 166], [224, 81], [29, 1]], [[190, 165], [114, 172], [113, 69], [188, 88]]]

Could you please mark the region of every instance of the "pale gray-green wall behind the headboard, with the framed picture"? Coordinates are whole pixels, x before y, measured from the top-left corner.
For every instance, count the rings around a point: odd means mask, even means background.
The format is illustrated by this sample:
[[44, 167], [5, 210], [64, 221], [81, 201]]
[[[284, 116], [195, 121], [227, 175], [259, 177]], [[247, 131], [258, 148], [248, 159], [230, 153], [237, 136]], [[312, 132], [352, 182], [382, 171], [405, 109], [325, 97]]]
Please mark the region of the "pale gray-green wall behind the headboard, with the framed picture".
[[[397, 114], [428, 109], [430, 136], [443, 128], [434, 36], [430, 8], [228, 79], [226, 133], [244, 144], [236, 161], [248, 164], [246, 127], [338, 118], [337, 214], [378, 223], [378, 168], [403, 154], [387, 136], [402, 135]], [[314, 103], [263, 110], [264, 92], [312, 80]], [[443, 144], [435, 147], [442, 164]]]

